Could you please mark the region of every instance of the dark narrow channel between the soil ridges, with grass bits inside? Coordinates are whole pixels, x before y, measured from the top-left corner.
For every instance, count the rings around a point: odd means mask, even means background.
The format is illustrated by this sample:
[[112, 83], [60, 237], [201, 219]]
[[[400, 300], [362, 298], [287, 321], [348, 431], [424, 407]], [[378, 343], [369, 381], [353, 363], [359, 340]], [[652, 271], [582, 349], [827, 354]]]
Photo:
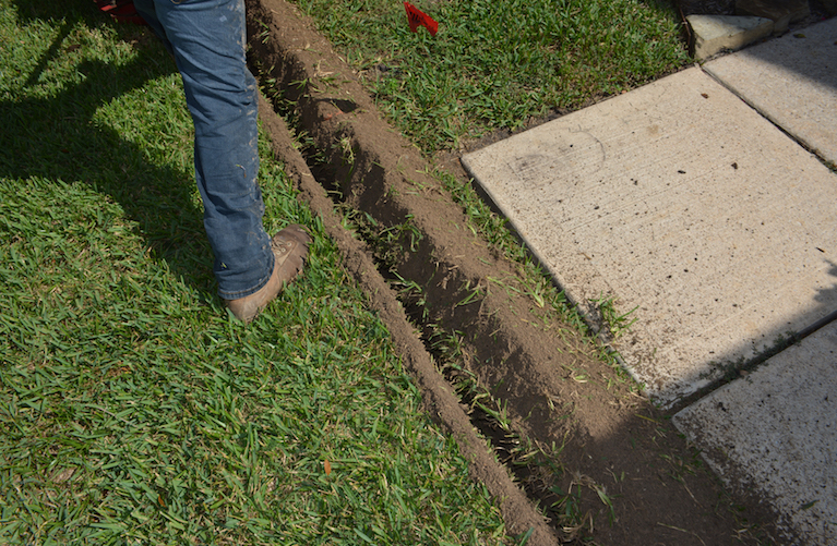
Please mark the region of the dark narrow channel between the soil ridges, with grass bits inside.
[[[289, 126], [294, 126], [292, 112], [284, 111], [273, 105], [277, 116], [286, 119]], [[322, 185], [326, 194], [331, 197], [335, 207], [344, 210], [342, 216], [346, 216], [346, 201], [343, 198], [343, 191], [336, 178], [336, 169], [328, 163], [324, 163], [319, 156], [319, 149], [312, 146], [302, 146], [299, 149], [314, 180]], [[352, 211], [362, 211], [351, 209]], [[351, 219], [349, 222], [355, 226], [356, 234], [367, 243], [371, 250], [375, 248], [373, 234], [364, 230]], [[364, 233], [364, 231], [367, 231]], [[497, 460], [505, 466], [515, 483], [524, 490], [529, 500], [546, 517], [549, 525], [559, 536], [566, 536], [562, 529], [562, 523], [567, 521], [567, 517], [579, 520], [583, 519], [579, 505], [581, 494], [574, 495], [572, 490], [562, 492], [558, 485], [550, 484], [545, 480], [545, 468], [549, 466], [555, 471], [555, 482], [558, 482], [563, 471], [557, 470], [554, 465], [548, 465], [542, 459], [546, 458], [540, 451], [530, 457], [533, 449], [521, 451], [522, 442], [526, 440], [512, 432], [507, 426], [504, 427], [501, 421], [489, 411], [480, 408], [477, 401], [481, 398], [488, 398], [489, 404], [499, 408], [499, 401], [491, 396], [487, 389], [475, 387], [476, 380], [464, 372], [451, 356], [451, 349], [445, 343], [445, 338], [451, 332], [438, 329], [426, 318], [426, 305], [422, 303], [420, 294], [409, 291], [399, 291], [395, 288], [399, 279], [387, 266], [384, 259], [376, 252], [372, 252], [372, 259], [379, 274], [384, 278], [391, 289], [397, 294], [410, 324], [420, 332], [420, 340], [425, 350], [433, 359], [437, 369], [444, 379], [453, 387], [461, 405], [468, 415], [471, 425], [489, 442]], [[567, 507], [569, 501], [569, 507]], [[565, 541], [562, 541], [565, 542]], [[574, 541], [573, 541], [574, 542]]]

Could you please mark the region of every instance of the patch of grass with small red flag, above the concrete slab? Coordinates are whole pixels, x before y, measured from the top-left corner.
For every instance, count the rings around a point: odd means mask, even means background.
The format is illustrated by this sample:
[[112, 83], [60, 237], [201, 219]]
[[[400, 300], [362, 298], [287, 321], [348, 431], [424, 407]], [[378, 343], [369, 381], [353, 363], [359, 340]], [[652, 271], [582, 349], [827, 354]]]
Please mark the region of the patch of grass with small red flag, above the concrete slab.
[[428, 154], [578, 108], [689, 61], [666, 0], [414, 2], [439, 22], [435, 37], [410, 33], [402, 2], [295, 2]]

